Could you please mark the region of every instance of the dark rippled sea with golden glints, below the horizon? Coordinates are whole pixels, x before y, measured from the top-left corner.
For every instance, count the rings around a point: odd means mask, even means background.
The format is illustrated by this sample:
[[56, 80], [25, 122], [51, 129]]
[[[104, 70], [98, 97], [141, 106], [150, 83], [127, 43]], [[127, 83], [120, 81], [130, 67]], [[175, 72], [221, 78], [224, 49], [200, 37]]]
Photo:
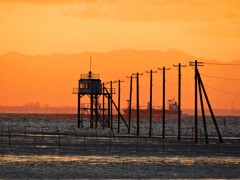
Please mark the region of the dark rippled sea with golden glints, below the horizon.
[[177, 119], [154, 121], [148, 137], [148, 120], [136, 121], [131, 132], [114, 119], [113, 130], [90, 128], [88, 119], [77, 128], [75, 115], [0, 114], [0, 178], [106, 179], [106, 178], [236, 178], [240, 167], [240, 117], [216, 117], [224, 143], [218, 140], [207, 117], [206, 144], [199, 117], [198, 143], [194, 142], [194, 117], [183, 116], [181, 141]]

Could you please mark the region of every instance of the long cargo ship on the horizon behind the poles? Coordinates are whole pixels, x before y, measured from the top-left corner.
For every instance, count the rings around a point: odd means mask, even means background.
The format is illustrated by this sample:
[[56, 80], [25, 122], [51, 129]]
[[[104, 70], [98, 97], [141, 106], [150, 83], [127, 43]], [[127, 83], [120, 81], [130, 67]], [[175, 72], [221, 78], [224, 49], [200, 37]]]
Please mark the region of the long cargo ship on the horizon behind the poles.
[[[123, 109], [124, 116], [128, 117], [129, 115], [129, 108]], [[181, 112], [182, 113], [182, 112]], [[152, 118], [155, 120], [162, 119], [163, 109], [162, 108], [152, 108]], [[169, 116], [177, 116], [178, 115], [178, 105], [174, 99], [168, 100], [168, 108], [165, 109], [166, 117]], [[147, 108], [140, 107], [139, 108], [139, 118], [140, 119], [148, 119], [150, 116], [150, 103], [148, 103]], [[131, 110], [131, 117], [137, 117], [137, 109], [132, 108]]]

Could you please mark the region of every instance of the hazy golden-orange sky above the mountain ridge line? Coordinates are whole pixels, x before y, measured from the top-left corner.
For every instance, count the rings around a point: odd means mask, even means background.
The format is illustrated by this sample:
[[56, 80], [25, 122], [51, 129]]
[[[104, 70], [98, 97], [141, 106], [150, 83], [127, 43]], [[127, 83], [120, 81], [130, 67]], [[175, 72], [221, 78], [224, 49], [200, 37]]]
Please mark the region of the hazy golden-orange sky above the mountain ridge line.
[[239, 0], [0, 0], [0, 54], [165, 51], [240, 59]]

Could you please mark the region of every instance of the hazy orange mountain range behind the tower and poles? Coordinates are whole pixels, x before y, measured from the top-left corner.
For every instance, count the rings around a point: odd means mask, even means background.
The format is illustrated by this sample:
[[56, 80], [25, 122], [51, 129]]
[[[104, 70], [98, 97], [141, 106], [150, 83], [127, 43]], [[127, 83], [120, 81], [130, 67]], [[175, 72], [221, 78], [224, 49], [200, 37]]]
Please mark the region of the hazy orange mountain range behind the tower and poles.
[[[0, 55], [0, 105], [24, 105], [26, 102], [38, 101], [51, 106], [76, 106], [76, 96], [72, 95], [72, 88], [82, 73], [88, 73], [92, 59], [93, 73], [99, 73], [103, 82], [124, 80], [122, 102], [129, 98], [129, 80], [126, 76], [132, 73], [144, 73], [140, 77], [141, 104], [148, 102], [149, 76], [146, 71], [157, 70], [165, 66], [171, 68], [167, 72], [167, 98], [177, 98], [177, 69], [173, 64], [182, 63], [187, 68], [182, 70], [183, 78], [183, 107], [193, 108], [193, 80], [194, 71], [189, 67], [189, 61], [199, 60], [206, 63], [222, 63], [217, 60], [208, 60], [188, 55], [171, 48], [167, 51], [135, 50], [131, 48], [110, 52], [82, 52], [75, 54], [52, 53], [48, 55], [25, 55], [19, 52], [9, 52]], [[239, 64], [239, 60], [227, 63]], [[236, 78], [240, 76], [239, 66], [210, 66], [200, 67], [200, 72], [217, 77]], [[161, 71], [154, 75], [155, 104], [161, 105]], [[206, 85], [217, 89], [238, 94], [238, 84], [231, 81], [220, 81], [203, 77]], [[135, 83], [135, 81], [134, 81]], [[114, 85], [116, 88], [116, 84]], [[134, 85], [135, 87], [135, 85]], [[189, 94], [190, 93], [190, 94]], [[209, 96], [216, 108], [224, 109], [234, 104], [240, 107], [236, 96], [221, 94], [209, 89]], [[218, 98], [218, 97], [221, 97]], [[125, 104], [126, 106], [126, 104]]]

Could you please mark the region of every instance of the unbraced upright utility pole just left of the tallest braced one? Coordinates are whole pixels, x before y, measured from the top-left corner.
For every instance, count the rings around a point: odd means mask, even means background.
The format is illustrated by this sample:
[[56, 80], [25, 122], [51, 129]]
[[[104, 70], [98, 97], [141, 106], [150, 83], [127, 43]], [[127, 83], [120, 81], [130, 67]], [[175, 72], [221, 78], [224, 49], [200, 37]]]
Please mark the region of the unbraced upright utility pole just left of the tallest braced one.
[[181, 67], [186, 67], [186, 65], [173, 65], [173, 67], [178, 68], [178, 141], [181, 140]]

